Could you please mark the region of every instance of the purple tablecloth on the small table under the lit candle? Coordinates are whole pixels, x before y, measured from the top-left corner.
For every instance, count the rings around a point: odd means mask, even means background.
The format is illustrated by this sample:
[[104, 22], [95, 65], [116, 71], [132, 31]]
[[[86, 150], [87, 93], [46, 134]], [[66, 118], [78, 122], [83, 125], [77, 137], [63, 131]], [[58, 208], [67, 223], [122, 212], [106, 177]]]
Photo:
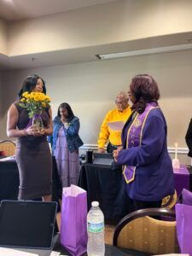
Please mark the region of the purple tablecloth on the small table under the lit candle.
[[182, 189], [189, 189], [189, 171], [186, 166], [181, 165], [179, 169], [174, 169], [175, 188], [177, 195], [180, 195]]

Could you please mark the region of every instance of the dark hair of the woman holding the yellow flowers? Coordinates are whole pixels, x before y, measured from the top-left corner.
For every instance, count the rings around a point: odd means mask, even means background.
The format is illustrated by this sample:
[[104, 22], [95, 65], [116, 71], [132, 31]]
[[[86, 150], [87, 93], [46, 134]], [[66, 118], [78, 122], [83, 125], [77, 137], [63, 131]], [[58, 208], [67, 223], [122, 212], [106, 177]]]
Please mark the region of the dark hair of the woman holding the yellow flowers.
[[[42, 78], [40, 78], [36, 74], [33, 74], [32, 76], [26, 77], [26, 79], [24, 79], [22, 87], [20, 89], [19, 98], [22, 97], [22, 94], [25, 91], [32, 92], [32, 90], [35, 88], [36, 84], [38, 83], [38, 79], [42, 79]], [[44, 92], [44, 94], [46, 94], [46, 87], [45, 87], [44, 79], [42, 79], [42, 82], [44, 84], [43, 92]]]

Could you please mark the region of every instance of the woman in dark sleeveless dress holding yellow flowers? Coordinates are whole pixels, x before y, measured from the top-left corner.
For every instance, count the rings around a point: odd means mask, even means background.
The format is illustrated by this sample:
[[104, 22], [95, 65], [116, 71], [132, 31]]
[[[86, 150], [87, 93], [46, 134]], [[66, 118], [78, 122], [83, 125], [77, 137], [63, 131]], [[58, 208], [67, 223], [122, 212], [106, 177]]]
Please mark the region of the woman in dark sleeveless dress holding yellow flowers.
[[[24, 79], [19, 101], [8, 111], [7, 135], [17, 137], [16, 162], [20, 172], [18, 198], [51, 201], [52, 162], [47, 135], [53, 131], [49, 96], [38, 75]], [[38, 125], [35, 120], [38, 119]]]

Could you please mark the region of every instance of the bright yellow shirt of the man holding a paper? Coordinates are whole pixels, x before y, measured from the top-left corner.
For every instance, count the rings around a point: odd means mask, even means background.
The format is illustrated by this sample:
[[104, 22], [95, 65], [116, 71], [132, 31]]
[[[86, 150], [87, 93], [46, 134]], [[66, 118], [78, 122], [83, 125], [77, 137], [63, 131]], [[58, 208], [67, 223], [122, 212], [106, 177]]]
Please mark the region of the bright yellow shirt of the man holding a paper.
[[104, 148], [105, 143], [109, 140], [113, 145], [121, 145], [121, 131], [113, 131], [108, 127], [108, 123], [116, 121], [125, 121], [131, 115], [131, 108], [125, 108], [120, 112], [117, 108], [110, 110], [102, 122], [101, 131], [99, 133], [98, 148]]

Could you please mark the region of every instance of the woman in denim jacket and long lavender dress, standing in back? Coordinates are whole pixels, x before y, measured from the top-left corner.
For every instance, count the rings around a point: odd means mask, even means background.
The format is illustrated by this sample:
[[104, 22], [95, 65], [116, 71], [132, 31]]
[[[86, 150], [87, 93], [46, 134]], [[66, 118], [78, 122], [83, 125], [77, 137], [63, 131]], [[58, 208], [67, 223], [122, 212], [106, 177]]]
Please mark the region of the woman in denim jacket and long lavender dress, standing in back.
[[55, 155], [62, 187], [77, 184], [79, 178], [79, 118], [74, 116], [67, 103], [61, 103], [53, 121], [53, 136], [49, 137]]

